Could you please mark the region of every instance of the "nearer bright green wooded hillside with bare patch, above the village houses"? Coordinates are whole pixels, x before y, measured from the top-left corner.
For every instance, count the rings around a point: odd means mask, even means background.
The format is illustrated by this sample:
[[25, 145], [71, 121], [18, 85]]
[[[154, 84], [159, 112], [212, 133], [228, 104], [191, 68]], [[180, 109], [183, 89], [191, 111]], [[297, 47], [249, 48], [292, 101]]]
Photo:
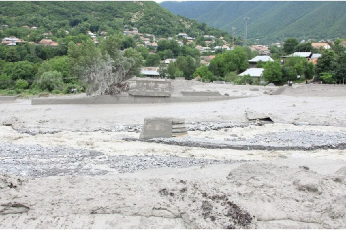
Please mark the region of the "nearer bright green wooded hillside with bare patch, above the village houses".
[[204, 32], [225, 34], [176, 16], [152, 1], [1, 1], [0, 25], [38, 27], [58, 36], [65, 30], [74, 35], [89, 30], [112, 34], [122, 31], [125, 25], [138, 28], [140, 33], [166, 37], [179, 32], [190, 36]]

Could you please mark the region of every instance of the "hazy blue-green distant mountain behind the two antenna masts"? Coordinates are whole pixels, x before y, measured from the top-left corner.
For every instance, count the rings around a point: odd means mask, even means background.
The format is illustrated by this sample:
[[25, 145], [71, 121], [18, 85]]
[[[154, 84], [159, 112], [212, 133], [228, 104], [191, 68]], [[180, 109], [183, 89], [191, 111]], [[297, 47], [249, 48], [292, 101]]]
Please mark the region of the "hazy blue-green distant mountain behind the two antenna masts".
[[346, 36], [345, 1], [166, 1], [161, 6], [228, 32], [236, 27], [236, 37], [244, 36], [244, 17], [248, 17], [248, 38], [264, 44], [288, 37]]

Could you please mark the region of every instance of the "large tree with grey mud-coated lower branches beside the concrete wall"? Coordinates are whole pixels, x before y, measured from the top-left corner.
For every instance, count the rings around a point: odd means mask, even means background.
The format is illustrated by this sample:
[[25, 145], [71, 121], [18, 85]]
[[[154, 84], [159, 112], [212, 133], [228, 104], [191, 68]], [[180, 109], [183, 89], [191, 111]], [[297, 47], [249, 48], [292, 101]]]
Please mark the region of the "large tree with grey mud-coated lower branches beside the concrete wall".
[[133, 57], [121, 54], [119, 45], [116, 37], [102, 41], [100, 47], [91, 40], [82, 42], [82, 46], [69, 43], [73, 74], [89, 85], [87, 95], [120, 93], [139, 68]]

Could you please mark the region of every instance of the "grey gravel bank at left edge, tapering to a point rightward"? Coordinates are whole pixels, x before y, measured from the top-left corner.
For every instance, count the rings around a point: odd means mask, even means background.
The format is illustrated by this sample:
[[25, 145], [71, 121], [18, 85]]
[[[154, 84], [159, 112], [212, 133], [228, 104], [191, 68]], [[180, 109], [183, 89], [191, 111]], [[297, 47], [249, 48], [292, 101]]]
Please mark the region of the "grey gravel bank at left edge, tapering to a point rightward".
[[41, 145], [0, 144], [0, 173], [16, 176], [104, 175], [160, 167], [233, 164], [178, 156], [107, 156], [102, 152]]

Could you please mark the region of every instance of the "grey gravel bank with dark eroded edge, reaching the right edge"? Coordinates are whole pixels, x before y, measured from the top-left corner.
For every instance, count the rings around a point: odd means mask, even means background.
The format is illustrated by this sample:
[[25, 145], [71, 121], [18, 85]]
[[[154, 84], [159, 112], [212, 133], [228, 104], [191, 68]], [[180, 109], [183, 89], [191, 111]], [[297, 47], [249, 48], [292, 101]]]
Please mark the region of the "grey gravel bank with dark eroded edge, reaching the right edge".
[[[125, 141], [139, 140], [124, 138]], [[346, 149], [346, 133], [318, 131], [283, 131], [257, 134], [252, 138], [229, 136], [222, 139], [180, 137], [153, 138], [139, 140], [153, 143], [164, 143], [189, 147], [231, 148], [237, 150], [317, 150], [317, 149]]]

